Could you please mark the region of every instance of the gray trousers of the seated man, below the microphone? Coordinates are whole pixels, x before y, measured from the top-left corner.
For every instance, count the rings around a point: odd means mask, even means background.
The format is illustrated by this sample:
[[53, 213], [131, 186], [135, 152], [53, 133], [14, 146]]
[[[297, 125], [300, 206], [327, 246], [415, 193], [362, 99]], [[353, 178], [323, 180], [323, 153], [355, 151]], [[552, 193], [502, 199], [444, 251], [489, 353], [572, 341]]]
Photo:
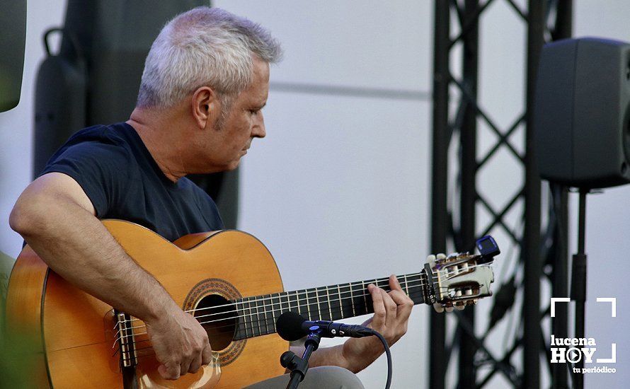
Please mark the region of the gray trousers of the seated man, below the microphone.
[[[277, 376], [249, 385], [246, 389], [284, 389], [289, 383], [290, 376]], [[304, 381], [299, 383], [299, 389], [363, 389], [363, 384], [350, 371], [338, 366], [319, 366], [309, 368]]]

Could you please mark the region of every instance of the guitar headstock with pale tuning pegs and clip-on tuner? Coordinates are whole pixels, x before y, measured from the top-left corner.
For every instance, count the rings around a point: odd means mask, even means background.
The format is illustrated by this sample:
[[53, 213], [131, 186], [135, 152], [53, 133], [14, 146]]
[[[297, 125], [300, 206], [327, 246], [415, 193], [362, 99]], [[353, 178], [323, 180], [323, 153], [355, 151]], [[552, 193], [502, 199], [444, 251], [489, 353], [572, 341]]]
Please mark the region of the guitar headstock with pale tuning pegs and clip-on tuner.
[[477, 240], [476, 246], [479, 254], [452, 254], [431, 259], [425, 265], [430, 302], [436, 310], [464, 309], [479, 298], [492, 296], [490, 284], [494, 281], [494, 273], [491, 265], [500, 250], [491, 236]]

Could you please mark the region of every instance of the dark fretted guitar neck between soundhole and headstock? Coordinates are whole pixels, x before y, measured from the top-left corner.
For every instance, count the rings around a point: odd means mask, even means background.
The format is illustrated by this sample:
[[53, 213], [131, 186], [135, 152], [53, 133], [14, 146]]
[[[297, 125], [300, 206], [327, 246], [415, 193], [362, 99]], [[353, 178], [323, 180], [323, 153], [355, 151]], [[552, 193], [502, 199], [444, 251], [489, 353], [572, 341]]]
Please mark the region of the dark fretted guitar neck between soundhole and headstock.
[[[401, 288], [414, 304], [426, 303], [428, 296], [425, 271], [397, 276]], [[233, 301], [239, 313], [234, 339], [244, 339], [275, 331], [275, 321], [287, 311], [307, 320], [341, 320], [374, 313], [367, 285], [389, 291], [389, 277], [320, 286], [299, 291], [265, 294]]]

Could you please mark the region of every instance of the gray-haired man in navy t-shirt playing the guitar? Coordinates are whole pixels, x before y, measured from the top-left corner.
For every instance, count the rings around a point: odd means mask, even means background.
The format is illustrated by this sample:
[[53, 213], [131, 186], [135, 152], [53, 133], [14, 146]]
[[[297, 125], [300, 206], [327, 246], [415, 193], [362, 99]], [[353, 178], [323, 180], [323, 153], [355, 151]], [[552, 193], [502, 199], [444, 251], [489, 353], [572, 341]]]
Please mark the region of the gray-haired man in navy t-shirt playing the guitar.
[[[210, 363], [212, 344], [99, 219], [133, 221], [171, 241], [222, 229], [212, 199], [185, 175], [232, 170], [252, 140], [265, 137], [269, 65], [280, 57], [277, 41], [245, 18], [207, 7], [177, 16], [151, 46], [130, 119], [74, 134], [11, 212], [11, 228], [57, 274], [146, 323], [164, 378]], [[369, 286], [374, 317], [367, 325], [393, 344], [406, 332], [413, 302], [395, 277], [390, 286], [389, 293]], [[372, 338], [319, 349], [311, 366], [347, 370], [315, 368], [303, 387], [361, 388], [348, 371], [382, 352]]]

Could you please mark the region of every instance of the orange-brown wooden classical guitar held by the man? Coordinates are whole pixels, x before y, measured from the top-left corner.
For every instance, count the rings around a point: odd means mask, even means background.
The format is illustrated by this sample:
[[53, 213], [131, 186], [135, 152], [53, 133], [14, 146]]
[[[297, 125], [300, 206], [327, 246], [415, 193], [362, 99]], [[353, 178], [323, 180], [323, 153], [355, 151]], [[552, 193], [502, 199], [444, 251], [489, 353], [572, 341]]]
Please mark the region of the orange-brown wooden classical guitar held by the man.
[[[288, 344], [275, 333], [280, 314], [291, 310], [309, 320], [365, 315], [373, 311], [367, 284], [389, 289], [385, 277], [283, 291], [270, 252], [247, 233], [192, 234], [170, 243], [134, 223], [103, 223], [202, 323], [217, 358], [177, 381], [161, 379], [142, 320], [76, 289], [27, 245], [11, 273], [6, 318], [8, 330], [38, 339], [39, 352], [33, 356], [38, 387], [242, 388], [283, 373], [278, 358]], [[403, 290], [417, 304], [447, 308], [490, 296], [490, 265], [498, 250], [484, 246], [496, 248], [486, 237], [478, 243], [479, 255], [451, 255], [399, 276]]]

